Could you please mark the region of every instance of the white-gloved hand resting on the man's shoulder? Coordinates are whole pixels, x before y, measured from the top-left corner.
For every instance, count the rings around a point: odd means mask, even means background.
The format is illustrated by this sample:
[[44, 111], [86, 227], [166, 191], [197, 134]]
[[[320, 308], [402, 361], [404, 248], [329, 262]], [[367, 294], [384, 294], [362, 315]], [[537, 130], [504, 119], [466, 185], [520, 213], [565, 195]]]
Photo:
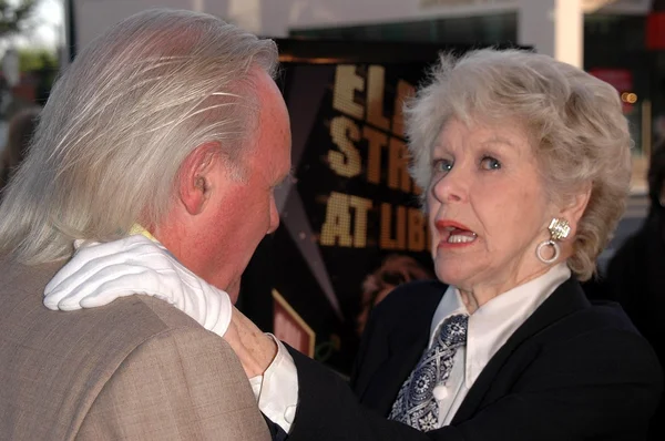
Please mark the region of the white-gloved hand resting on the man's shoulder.
[[235, 309], [225, 291], [142, 235], [81, 245], [47, 285], [43, 301], [49, 309], [70, 311], [109, 305], [132, 295], [164, 300], [221, 337]]

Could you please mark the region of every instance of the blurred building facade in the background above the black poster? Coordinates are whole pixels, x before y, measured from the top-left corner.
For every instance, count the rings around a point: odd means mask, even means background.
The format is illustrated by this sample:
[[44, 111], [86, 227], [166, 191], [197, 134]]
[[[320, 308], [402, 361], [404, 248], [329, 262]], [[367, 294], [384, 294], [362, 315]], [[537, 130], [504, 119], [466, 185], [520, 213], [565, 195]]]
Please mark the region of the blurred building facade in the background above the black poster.
[[[223, 17], [266, 37], [516, 43], [584, 68], [622, 94], [635, 140], [635, 192], [665, 140], [665, 54], [647, 44], [652, 0], [70, 0], [75, 45], [155, 7]], [[665, 39], [665, 37], [664, 37]], [[653, 44], [652, 44], [653, 47]], [[665, 42], [664, 42], [665, 47]]]

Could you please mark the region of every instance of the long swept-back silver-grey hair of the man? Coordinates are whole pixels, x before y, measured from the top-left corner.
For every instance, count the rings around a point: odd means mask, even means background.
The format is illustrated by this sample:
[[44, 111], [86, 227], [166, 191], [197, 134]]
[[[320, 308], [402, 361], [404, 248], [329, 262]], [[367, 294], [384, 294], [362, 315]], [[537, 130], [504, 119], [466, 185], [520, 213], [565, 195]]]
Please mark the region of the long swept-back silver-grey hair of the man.
[[39, 264], [168, 209], [180, 165], [215, 142], [229, 167], [257, 124], [254, 69], [275, 43], [202, 13], [150, 10], [80, 52], [57, 81], [0, 207], [0, 254]]

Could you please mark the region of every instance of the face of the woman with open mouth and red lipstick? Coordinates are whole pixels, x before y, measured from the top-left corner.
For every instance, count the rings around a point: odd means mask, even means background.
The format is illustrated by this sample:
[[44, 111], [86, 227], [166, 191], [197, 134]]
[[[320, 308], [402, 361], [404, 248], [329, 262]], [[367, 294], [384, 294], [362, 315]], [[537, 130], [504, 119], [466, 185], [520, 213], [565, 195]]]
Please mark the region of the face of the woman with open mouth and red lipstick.
[[432, 167], [427, 203], [441, 280], [502, 293], [546, 269], [535, 249], [557, 212], [519, 121], [467, 126], [450, 120]]

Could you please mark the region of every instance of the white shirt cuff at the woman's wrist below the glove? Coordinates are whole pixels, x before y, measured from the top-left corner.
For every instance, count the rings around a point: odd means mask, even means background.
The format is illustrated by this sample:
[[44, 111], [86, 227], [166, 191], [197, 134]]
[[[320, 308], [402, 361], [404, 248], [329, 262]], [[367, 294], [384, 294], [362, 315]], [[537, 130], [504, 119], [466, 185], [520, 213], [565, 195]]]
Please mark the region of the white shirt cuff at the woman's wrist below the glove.
[[298, 407], [298, 371], [282, 341], [268, 336], [277, 343], [277, 355], [264, 375], [250, 378], [249, 384], [258, 409], [288, 433]]

